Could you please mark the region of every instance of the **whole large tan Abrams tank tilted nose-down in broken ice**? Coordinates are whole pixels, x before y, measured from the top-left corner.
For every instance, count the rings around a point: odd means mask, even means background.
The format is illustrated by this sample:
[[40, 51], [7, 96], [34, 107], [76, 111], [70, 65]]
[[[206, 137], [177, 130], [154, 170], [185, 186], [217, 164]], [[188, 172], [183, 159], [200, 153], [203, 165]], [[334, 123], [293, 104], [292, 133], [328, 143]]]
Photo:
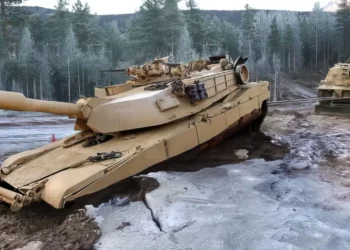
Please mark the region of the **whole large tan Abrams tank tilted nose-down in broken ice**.
[[[95, 89], [77, 103], [0, 91], [0, 109], [67, 115], [76, 134], [13, 155], [0, 169], [0, 201], [17, 212], [44, 201], [62, 209], [177, 155], [203, 150], [241, 128], [260, 125], [268, 82], [249, 82], [247, 59], [211, 57], [206, 69], [151, 83]], [[166, 77], [166, 78], [167, 78]], [[137, 79], [137, 78], [136, 78]]]

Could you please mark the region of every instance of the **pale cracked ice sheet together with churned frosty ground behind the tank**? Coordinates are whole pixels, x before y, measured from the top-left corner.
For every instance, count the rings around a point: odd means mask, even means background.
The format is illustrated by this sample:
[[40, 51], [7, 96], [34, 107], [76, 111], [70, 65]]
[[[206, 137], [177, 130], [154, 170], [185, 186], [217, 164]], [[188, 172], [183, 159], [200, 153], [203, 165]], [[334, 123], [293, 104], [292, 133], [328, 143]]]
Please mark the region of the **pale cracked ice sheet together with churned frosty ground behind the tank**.
[[284, 159], [148, 174], [160, 187], [144, 202], [86, 207], [96, 249], [350, 249], [349, 121], [270, 111]]

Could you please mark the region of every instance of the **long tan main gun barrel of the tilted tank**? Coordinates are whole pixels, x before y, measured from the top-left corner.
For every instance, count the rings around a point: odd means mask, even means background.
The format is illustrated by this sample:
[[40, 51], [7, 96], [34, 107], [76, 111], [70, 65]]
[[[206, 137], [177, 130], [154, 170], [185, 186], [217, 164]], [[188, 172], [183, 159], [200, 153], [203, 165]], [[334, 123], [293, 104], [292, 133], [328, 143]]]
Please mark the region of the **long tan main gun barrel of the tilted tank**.
[[13, 111], [33, 111], [57, 115], [82, 117], [81, 105], [41, 101], [26, 98], [21, 93], [0, 91], [0, 109]]

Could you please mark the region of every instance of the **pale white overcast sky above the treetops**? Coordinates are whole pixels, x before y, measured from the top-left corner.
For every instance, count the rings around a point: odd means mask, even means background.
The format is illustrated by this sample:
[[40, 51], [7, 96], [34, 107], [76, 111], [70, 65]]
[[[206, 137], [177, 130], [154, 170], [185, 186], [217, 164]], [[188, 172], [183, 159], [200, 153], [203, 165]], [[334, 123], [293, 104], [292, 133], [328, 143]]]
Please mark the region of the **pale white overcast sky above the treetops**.
[[[201, 9], [210, 10], [241, 10], [248, 3], [256, 9], [274, 9], [274, 10], [298, 10], [311, 11], [317, 0], [197, 0]], [[321, 6], [326, 6], [332, 0], [319, 0]], [[54, 8], [57, 0], [27, 0], [25, 5], [42, 6]], [[69, 0], [70, 6], [75, 0]], [[138, 10], [143, 0], [82, 0], [88, 2], [93, 13], [103, 14], [121, 14], [133, 13]], [[180, 8], [185, 8], [185, 0], [180, 3]]]

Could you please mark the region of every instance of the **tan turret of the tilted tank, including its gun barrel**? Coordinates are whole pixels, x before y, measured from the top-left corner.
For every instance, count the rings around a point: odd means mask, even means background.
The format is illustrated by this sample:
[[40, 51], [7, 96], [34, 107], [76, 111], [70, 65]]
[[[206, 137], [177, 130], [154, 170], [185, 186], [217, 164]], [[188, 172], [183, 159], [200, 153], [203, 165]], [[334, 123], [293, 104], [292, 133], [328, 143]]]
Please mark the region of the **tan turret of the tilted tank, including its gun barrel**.
[[1, 91], [0, 109], [68, 115], [77, 118], [76, 130], [97, 133], [159, 126], [198, 113], [248, 82], [244, 61], [237, 61], [234, 69], [225, 58], [215, 60], [205, 70], [190, 70], [188, 75], [174, 79], [168, 75], [167, 80], [161, 70], [163, 60], [158, 60], [150, 67], [160, 72], [153, 72], [153, 83], [99, 88], [95, 97], [80, 99], [76, 104], [27, 99], [20, 93]]

